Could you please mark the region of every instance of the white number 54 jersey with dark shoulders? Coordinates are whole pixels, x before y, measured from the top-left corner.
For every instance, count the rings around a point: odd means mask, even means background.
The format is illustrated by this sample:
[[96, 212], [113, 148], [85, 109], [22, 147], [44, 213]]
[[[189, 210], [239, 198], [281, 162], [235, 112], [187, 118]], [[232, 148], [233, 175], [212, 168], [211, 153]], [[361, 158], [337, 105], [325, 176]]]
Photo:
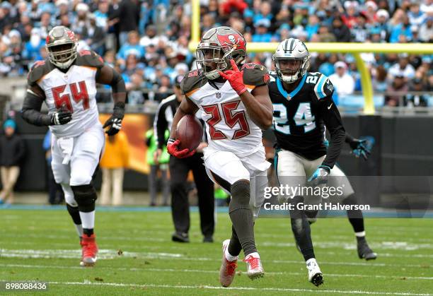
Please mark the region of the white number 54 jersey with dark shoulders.
[[81, 51], [66, 73], [50, 61], [37, 61], [28, 74], [28, 84], [38, 85], [45, 93], [49, 114], [67, 108], [72, 120], [50, 126], [58, 138], [79, 136], [92, 126], [100, 125], [96, 105], [96, 73], [103, 59], [91, 51]]

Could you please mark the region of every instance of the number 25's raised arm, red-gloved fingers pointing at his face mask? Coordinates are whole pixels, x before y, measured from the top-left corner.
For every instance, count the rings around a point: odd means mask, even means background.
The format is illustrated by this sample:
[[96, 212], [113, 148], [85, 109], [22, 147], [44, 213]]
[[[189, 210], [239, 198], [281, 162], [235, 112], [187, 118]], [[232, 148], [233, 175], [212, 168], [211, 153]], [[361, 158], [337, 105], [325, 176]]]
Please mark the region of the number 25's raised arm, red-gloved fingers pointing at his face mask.
[[238, 93], [239, 97], [246, 107], [248, 115], [260, 129], [268, 129], [272, 125], [272, 102], [269, 97], [267, 85], [260, 85], [249, 93], [246, 85], [243, 83], [243, 73], [239, 71], [233, 59], [230, 60], [233, 70], [219, 72], [219, 74], [229, 81], [233, 90]]

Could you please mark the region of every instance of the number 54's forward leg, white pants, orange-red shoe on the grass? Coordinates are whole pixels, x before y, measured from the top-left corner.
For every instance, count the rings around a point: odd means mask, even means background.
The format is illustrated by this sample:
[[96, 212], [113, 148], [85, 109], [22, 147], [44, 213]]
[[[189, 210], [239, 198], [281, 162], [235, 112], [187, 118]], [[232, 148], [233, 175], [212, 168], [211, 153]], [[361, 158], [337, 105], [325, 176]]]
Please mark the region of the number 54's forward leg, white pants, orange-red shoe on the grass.
[[93, 187], [93, 174], [98, 167], [100, 153], [104, 145], [103, 129], [96, 126], [74, 138], [74, 150], [71, 155], [71, 179], [69, 184], [79, 206], [79, 215], [83, 225], [83, 264], [94, 266], [98, 254], [98, 245], [94, 234], [95, 202], [98, 198]]

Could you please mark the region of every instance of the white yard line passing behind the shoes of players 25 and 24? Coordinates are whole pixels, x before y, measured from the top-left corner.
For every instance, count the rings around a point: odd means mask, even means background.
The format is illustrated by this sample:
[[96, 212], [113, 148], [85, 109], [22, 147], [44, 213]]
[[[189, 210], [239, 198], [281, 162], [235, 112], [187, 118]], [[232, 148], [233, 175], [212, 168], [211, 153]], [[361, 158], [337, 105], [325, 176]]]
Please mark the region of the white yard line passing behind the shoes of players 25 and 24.
[[[28, 264], [0, 264], [3, 267], [19, 267], [19, 268], [42, 268], [42, 269], [80, 269], [83, 268], [81, 266], [52, 266], [52, 265], [28, 265]], [[175, 268], [137, 268], [137, 267], [100, 267], [98, 269], [110, 269], [110, 270], [120, 270], [120, 271], [154, 271], [154, 272], [185, 272], [185, 273], [219, 273], [219, 271], [209, 271], [202, 269], [175, 269]], [[266, 272], [267, 275], [289, 275], [289, 276], [306, 276], [305, 273], [296, 273], [289, 271], [274, 271], [274, 272]], [[342, 278], [405, 278], [406, 280], [433, 280], [433, 277], [425, 277], [425, 276], [371, 276], [371, 275], [362, 275], [362, 274], [342, 274], [342, 273], [325, 273], [325, 276], [328, 277], [342, 277]]]

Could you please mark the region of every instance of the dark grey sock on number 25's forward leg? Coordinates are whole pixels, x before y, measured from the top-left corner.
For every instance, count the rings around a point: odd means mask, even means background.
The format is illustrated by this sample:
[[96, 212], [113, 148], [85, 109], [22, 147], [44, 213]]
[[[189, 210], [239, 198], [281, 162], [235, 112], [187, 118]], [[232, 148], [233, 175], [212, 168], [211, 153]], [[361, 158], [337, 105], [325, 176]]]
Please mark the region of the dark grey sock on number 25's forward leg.
[[229, 215], [245, 256], [257, 251], [254, 240], [253, 212], [250, 209], [249, 203], [250, 182], [248, 180], [240, 180], [231, 185]]

